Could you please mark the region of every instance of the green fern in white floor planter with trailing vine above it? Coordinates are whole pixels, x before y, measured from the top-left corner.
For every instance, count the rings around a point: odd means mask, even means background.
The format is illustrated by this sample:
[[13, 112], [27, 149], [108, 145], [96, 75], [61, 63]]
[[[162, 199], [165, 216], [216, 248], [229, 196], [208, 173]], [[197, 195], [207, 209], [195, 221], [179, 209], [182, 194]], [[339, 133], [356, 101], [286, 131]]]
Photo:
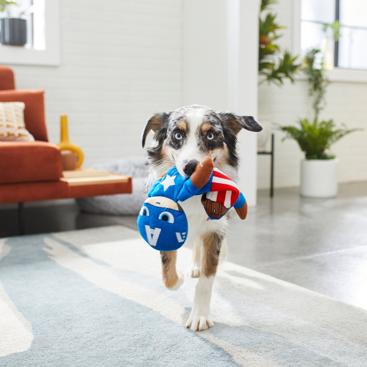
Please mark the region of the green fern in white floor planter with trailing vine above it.
[[316, 56], [320, 50], [313, 49], [302, 63], [303, 71], [308, 76], [309, 94], [314, 97], [313, 110], [315, 117], [312, 121], [300, 119], [299, 127], [280, 126], [286, 132], [283, 138], [297, 141], [305, 159], [301, 161], [301, 195], [306, 197], [334, 197], [337, 195], [337, 163], [335, 155], [330, 153], [332, 144], [353, 131], [345, 125], [337, 127], [333, 120], [319, 121], [319, 113], [325, 105], [326, 87], [330, 83], [325, 76], [325, 69], [321, 61], [316, 64]]

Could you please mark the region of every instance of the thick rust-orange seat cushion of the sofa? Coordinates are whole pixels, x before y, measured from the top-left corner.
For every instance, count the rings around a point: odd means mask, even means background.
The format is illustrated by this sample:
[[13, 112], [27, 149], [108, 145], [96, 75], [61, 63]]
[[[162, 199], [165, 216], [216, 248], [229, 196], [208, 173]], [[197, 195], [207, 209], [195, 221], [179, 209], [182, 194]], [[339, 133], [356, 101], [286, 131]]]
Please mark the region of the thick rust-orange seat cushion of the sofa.
[[41, 141], [1, 142], [0, 183], [57, 181], [61, 176], [57, 145]]

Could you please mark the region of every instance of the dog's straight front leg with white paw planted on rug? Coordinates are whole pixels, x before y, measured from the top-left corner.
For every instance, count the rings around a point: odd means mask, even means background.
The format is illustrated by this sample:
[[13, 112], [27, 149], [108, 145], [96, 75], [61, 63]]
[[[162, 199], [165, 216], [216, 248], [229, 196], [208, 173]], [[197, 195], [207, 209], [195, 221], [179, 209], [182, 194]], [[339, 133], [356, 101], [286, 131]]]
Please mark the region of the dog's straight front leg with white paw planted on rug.
[[206, 330], [214, 325], [210, 314], [210, 298], [224, 232], [209, 232], [203, 237], [204, 256], [199, 281], [195, 287], [194, 305], [186, 327], [193, 331]]

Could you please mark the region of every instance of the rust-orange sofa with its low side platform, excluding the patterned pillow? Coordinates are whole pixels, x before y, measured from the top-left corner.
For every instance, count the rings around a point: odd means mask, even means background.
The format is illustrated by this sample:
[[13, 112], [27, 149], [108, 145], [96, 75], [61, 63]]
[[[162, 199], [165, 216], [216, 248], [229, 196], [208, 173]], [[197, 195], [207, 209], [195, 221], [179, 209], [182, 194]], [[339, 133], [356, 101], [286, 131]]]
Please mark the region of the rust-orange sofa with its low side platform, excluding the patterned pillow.
[[[131, 178], [77, 186], [61, 180], [61, 152], [48, 142], [43, 95], [42, 90], [16, 90], [13, 71], [0, 66], [0, 102], [25, 103], [25, 125], [35, 139], [0, 142], [0, 204], [131, 193]], [[22, 204], [19, 210], [21, 215]]]

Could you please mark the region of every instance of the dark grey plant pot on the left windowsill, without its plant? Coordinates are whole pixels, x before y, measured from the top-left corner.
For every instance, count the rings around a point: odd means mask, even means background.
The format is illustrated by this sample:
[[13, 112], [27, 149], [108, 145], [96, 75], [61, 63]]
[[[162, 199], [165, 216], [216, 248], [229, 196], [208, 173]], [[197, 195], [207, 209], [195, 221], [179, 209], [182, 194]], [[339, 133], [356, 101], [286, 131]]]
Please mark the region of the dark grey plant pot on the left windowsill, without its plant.
[[0, 19], [0, 43], [24, 46], [27, 43], [27, 21], [20, 18]]

